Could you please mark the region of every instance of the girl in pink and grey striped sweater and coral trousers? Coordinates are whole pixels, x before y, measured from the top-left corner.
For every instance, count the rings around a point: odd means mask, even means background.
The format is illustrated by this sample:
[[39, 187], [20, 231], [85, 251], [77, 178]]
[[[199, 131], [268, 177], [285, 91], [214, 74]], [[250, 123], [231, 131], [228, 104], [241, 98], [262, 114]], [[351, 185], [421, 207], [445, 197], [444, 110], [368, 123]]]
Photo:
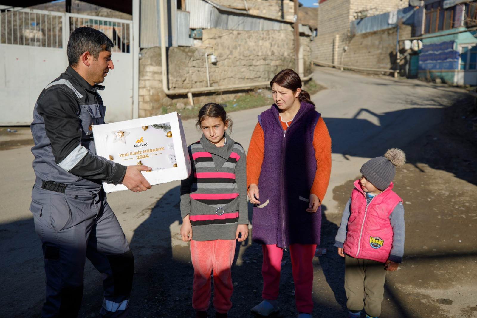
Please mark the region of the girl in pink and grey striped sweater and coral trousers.
[[226, 133], [232, 121], [220, 104], [202, 106], [196, 126], [203, 135], [188, 147], [192, 172], [180, 187], [180, 234], [182, 241], [190, 241], [196, 318], [207, 317], [211, 271], [216, 317], [226, 318], [232, 307], [230, 267], [236, 239], [242, 242], [249, 234], [245, 151]]

